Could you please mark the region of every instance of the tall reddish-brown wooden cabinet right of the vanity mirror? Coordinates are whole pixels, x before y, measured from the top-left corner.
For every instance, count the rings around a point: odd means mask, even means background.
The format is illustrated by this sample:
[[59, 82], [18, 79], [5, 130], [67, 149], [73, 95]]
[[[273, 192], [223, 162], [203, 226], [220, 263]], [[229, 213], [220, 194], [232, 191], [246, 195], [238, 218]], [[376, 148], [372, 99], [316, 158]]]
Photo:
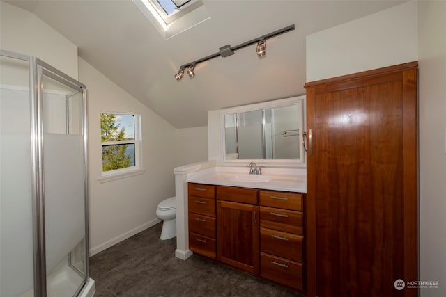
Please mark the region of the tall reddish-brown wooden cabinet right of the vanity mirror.
[[305, 88], [308, 296], [417, 296], [417, 62]]

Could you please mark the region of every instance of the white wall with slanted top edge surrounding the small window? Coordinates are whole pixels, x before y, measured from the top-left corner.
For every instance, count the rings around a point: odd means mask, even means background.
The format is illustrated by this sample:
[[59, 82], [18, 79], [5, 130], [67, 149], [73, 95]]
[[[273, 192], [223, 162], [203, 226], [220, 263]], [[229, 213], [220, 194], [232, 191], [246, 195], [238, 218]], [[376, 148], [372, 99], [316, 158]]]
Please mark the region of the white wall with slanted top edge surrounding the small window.
[[[89, 113], [90, 250], [94, 255], [158, 223], [157, 204], [175, 194], [174, 127], [79, 58]], [[100, 112], [139, 113], [142, 121], [142, 175], [101, 184]]]

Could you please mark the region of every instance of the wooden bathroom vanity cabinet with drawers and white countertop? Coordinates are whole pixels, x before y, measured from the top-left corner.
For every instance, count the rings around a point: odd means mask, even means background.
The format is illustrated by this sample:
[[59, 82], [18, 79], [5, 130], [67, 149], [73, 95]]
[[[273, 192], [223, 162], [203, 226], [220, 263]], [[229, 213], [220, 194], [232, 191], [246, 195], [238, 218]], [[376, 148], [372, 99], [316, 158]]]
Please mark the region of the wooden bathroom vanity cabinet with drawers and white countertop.
[[187, 178], [190, 250], [304, 291], [305, 170], [234, 170]]

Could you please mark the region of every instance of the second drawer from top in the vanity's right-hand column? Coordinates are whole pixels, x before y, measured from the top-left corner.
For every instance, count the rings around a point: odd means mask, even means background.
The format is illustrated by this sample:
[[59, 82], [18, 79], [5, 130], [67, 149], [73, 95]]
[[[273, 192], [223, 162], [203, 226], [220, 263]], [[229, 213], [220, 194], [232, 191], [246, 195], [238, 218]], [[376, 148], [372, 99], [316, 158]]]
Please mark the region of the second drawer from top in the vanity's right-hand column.
[[300, 211], [260, 207], [260, 227], [302, 235], [302, 226]]

